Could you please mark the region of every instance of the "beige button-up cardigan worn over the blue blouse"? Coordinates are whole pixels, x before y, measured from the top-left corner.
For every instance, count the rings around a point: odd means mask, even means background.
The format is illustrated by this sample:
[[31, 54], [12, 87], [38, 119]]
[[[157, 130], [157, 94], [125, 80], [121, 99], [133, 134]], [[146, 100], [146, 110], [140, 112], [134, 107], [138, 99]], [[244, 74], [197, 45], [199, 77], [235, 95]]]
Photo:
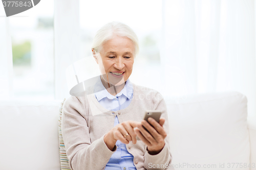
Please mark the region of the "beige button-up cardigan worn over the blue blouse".
[[90, 91], [84, 91], [79, 96], [70, 96], [65, 101], [61, 129], [71, 169], [104, 169], [116, 151], [116, 145], [114, 151], [111, 151], [103, 141], [104, 135], [114, 127], [115, 116], [118, 117], [119, 123], [126, 120], [140, 122], [145, 110], [163, 111], [161, 117], [165, 118], [163, 127], [167, 132], [165, 146], [157, 155], [148, 154], [146, 145], [141, 140], [137, 140], [136, 144], [130, 141], [126, 144], [126, 149], [134, 156], [134, 165], [138, 170], [173, 169], [170, 168], [172, 155], [169, 151], [169, 127], [163, 97], [150, 88], [133, 84], [133, 89], [131, 104], [116, 112], [103, 108], [95, 94], [90, 94]]

